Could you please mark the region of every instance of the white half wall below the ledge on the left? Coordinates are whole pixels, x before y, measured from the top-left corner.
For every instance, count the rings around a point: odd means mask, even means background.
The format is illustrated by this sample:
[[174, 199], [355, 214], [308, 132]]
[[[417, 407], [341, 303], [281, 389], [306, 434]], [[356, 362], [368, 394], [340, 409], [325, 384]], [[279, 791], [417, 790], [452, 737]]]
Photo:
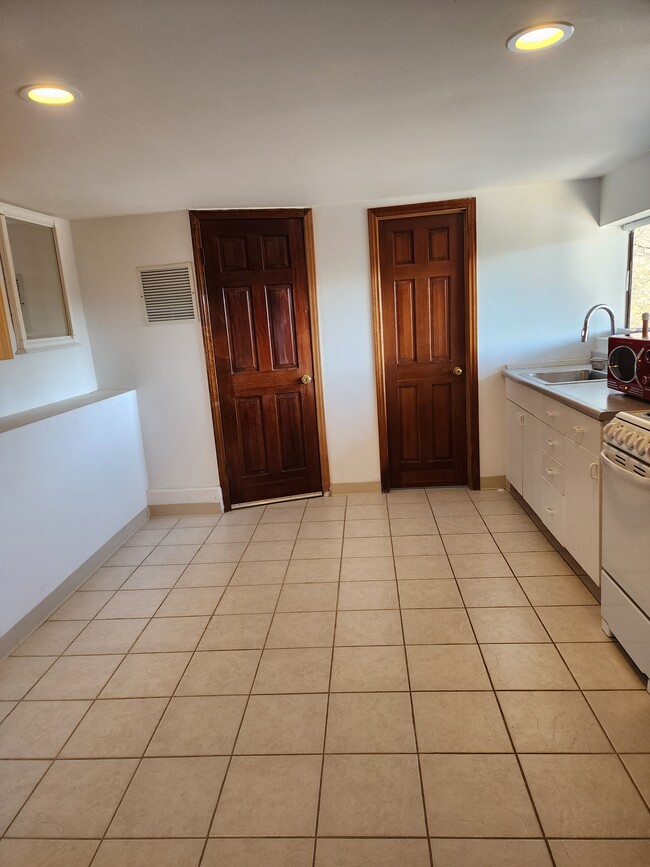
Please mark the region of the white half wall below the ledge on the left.
[[0, 638], [146, 508], [134, 392], [0, 433]]

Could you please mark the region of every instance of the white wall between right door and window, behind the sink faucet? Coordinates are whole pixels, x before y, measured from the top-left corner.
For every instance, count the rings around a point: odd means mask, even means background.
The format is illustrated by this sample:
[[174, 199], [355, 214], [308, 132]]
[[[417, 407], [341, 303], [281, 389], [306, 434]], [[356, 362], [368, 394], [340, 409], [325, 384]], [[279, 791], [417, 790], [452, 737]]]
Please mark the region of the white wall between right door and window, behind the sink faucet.
[[609, 317], [623, 324], [627, 238], [599, 228], [597, 180], [509, 187], [477, 195], [481, 476], [505, 473], [501, 366], [588, 355]]

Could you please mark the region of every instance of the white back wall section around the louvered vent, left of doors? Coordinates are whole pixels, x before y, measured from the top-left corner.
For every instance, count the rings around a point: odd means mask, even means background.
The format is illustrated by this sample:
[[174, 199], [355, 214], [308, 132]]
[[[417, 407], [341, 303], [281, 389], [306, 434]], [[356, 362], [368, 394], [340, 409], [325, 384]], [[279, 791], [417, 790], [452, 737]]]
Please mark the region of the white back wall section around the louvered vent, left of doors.
[[149, 502], [208, 503], [218, 487], [198, 319], [147, 325], [138, 266], [192, 261], [186, 212], [73, 223], [97, 380], [137, 388]]

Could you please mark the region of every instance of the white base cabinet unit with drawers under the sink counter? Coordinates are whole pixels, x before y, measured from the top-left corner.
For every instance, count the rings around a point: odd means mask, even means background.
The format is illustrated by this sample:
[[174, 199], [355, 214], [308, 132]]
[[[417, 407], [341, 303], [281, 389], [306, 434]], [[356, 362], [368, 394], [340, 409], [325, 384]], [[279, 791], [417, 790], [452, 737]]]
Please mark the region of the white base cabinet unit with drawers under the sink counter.
[[510, 380], [506, 395], [508, 483], [599, 584], [601, 423]]

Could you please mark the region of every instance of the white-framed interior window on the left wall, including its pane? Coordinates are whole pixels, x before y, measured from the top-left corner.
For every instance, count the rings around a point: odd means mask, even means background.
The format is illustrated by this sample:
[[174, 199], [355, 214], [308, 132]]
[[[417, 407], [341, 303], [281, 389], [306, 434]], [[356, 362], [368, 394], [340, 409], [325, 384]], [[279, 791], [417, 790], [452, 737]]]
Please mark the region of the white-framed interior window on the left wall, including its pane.
[[0, 259], [17, 352], [73, 342], [56, 220], [4, 206]]

